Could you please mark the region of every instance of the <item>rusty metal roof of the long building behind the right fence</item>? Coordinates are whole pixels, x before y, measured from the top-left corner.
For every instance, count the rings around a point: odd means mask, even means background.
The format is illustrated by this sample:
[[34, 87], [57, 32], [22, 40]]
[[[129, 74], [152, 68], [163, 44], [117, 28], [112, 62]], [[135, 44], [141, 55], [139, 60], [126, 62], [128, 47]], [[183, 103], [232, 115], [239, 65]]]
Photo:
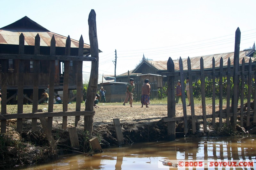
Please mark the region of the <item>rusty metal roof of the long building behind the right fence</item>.
[[[249, 53], [251, 53], [251, 51], [252, 50], [240, 51], [240, 53], [239, 53], [239, 64], [242, 64], [243, 58], [245, 60], [245, 63], [249, 63], [250, 57], [248, 57], [247, 55]], [[228, 58], [230, 58], [231, 65], [233, 65], [234, 52], [191, 57], [190, 62], [191, 62], [191, 69], [192, 70], [200, 69], [200, 59], [201, 59], [201, 57], [204, 60], [204, 68], [212, 68], [212, 58], [213, 57], [215, 59], [215, 67], [220, 67], [220, 58], [221, 57], [223, 59], [223, 66], [227, 66], [228, 65]], [[255, 59], [252, 58], [252, 61], [255, 61]], [[136, 70], [139, 70], [139, 67], [144, 62], [149, 64], [149, 65], [152, 65], [153, 67], [156, 68], [156, 70], [167, 70], [167, 61], [144, 60], [134, 69], [134, 72]], [[183, 58], [182, 59], [183, 70], [188, 70], [188, 63], [187, 62], [188, 62], [188, 58]], [[173, 63], [174, 63], [175, 70], [180, 70], [179, 60], [173, 60]]]

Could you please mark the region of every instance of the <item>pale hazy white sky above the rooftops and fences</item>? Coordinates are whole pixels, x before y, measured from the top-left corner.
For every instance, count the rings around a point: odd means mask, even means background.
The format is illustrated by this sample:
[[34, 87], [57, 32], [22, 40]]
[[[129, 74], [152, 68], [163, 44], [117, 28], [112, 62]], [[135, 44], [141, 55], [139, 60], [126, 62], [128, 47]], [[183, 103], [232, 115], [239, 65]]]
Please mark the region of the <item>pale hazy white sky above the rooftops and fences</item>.
[[[133, 70], [143, 54], [155, 61], [240, 50], [256, 40], [255, 0], [0, 0], [0, 28], [27, 16], [51, 32], [90, 44], [88, 16], [96, 12], [99, 74]], [[211, 59], [212, 60], [212, 59]], [[90, 72], [91, 62], [84, 62]]]

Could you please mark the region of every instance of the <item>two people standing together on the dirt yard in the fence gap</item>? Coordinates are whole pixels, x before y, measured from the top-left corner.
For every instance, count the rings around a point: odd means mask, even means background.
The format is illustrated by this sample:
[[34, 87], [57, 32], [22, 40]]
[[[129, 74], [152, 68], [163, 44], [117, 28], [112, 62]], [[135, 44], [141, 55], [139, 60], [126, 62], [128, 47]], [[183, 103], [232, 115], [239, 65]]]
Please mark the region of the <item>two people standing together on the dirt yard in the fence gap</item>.
[[[125, 91], [126, 98], [123, 103], [124, 106], [125, 106], [125, 103], [128, 103], [128, 99], [130, 98], [129, 104], [130, 104], [130, 107], [133, 107], [132, 106], [132, 102], [133, 102], [132, 92], [133, 92], [133, 89], [135, 88], [135, 85], [133, 82], [134, 82], [133, 78], [130, 78], [130, 83], [127, 85], [126, 91]], [[149, 96], [150, 96], [150, 84], [149, 84], [149, 80], [145, 79], [144, 84], [142, 85], [142, 89], [141, 89], [141, 100], [140, 100], [141, 107], [143, 107], [143, 105], [146, 105], [146, 107], [148, 107], [148, 105], [150, 103]]]

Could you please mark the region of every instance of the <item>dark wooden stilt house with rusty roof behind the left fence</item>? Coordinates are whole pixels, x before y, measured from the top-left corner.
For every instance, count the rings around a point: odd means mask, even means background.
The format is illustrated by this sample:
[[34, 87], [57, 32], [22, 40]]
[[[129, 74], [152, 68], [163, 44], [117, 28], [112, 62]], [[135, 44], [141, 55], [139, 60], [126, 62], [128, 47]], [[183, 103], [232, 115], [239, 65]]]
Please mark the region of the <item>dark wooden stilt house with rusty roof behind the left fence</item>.
[[[3, 75], [1, 71], [1, 81], [3, 78], [7, 79], [7, 104], [16, 103], [17, 90], [18, 90], [18, 54], [19, 54], [19, 36], [23, 33], [25, 37], [25, 52], [24, 54], [35, 53], [35, 37], [37, 34], [40, 36], [40, 55], [50, 55], [51, 39], [54, 36], [56, 41], [56, 55], [65, 55], [65, 45], [67, 37], [52, 33], [43, 26], [37, 24], [27, 16], [20, 20], [0, 28], [0, 54], [17, 54], [16, 58], [6, 58], [7, 62], [7, 75]], [[71, 39], [70, 55], [78, 55], [79, 41]], [[90, 45], [84, 43], [84, 56], [89, 56]], [[101, 52], [99, 50], [99, 52]], [[30, 103], [33, 97], [33, 71], [34, 71], [34, 60], [31, 56], [30, 61], [25, 60], [24, 63], [24, 103]], [[49, 81], [54, 81], [54, 92], [63, 91], [63, 79], [64, 79], [64, 61], [55, 61], [55, 76], [49, 78], [50, 60], [39, 60], [38, 67], [40, 68], [39, 73], [39, 99], [44, 89], [47, 89]], [[68, 90], [76, 89], [76, 76], [77, 76], [77, 61], [70, 61], [69, 65], [69, 80]], [[2, 66], [2, 61], [0, 61]]]

